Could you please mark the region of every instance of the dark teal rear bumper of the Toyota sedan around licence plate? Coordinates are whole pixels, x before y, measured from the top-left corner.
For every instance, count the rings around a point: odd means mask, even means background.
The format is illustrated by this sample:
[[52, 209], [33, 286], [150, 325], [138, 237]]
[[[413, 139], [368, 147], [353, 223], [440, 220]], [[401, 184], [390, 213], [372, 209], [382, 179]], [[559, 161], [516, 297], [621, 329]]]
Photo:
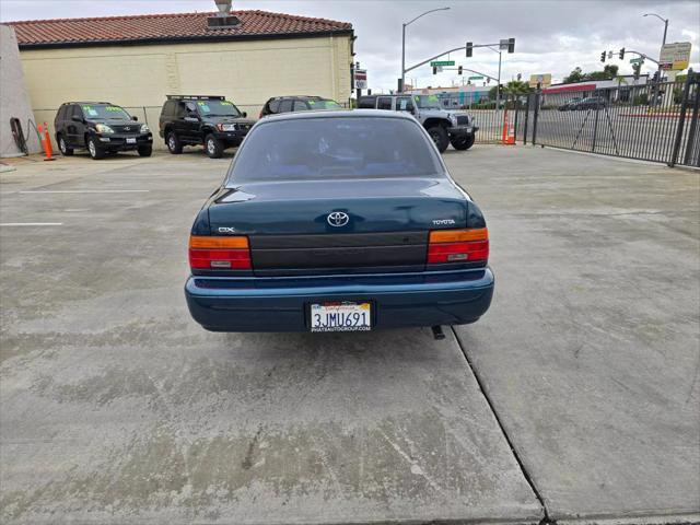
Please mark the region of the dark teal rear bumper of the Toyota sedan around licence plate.
[[489, 268], [329, 277], [190, 277], [192, 318], [212, 331], [306, 331], [307, 307], [326, 301], [370, 301], [374, 328], [463, 325], [491, 304]]

